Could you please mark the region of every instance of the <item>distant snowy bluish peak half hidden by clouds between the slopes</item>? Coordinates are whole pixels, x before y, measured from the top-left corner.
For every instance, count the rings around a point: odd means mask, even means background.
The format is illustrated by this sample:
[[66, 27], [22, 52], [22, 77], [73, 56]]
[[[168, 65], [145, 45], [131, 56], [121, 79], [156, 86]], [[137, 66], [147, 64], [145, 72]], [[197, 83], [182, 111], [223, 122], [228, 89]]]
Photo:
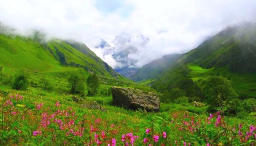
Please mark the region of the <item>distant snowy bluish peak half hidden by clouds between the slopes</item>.
[[95, 48], [103, 50], [103, 55], [111, 54], [119, 66], [115, 68], [116, 72], [123, 76], [132, 76], [135, 71], [138, 60], [131, 56], [139, 53], [141, 49], [146, 49], [145, 45], [150, 40], [142, 34], [121, 33], [117, 35], [111, 43], [102, 39], [101, 43]]

